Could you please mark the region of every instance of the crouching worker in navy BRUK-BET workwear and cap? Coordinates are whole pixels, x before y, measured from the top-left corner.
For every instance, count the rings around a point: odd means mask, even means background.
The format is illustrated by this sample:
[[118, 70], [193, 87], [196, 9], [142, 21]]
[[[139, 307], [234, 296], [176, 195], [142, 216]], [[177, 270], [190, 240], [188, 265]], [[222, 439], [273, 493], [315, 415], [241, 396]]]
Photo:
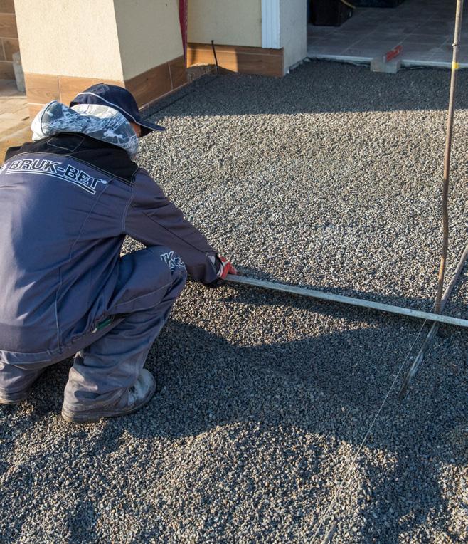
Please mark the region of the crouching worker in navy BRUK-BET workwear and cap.
[[[216, 286], [235, 270], [133, 162], [138, 137], [164, 129], [127, 90], [53, 101], [32, 130], [0, 169], [0, 403], [74, 355], [63, 417], [129, 414], [154, 394], [143, 365], [187, 273]], [[126, 235], [146, 249], [121, 258]]]

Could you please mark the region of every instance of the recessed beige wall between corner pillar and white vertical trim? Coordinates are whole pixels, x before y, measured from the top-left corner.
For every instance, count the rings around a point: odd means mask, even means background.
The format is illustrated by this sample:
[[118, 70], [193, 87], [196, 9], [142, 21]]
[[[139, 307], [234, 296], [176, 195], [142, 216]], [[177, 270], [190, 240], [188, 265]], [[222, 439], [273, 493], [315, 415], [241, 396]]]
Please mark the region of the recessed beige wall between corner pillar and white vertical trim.
[[230, 46], [262, 47], [261, 0], [188, 0], [188, 41], [211, 40]]

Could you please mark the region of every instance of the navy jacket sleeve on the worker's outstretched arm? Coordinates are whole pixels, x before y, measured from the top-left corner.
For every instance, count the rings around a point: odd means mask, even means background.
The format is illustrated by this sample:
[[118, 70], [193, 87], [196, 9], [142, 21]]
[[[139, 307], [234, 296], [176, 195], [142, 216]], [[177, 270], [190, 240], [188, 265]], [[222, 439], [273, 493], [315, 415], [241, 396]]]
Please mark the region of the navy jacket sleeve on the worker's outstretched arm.
[[124, 230], [145, 246], [166, 246], [175, 251], [196, 281], [208, 284], [218, 278], [208, 258], [216, 256], [216, 250], [142, 168], [135, 174]]

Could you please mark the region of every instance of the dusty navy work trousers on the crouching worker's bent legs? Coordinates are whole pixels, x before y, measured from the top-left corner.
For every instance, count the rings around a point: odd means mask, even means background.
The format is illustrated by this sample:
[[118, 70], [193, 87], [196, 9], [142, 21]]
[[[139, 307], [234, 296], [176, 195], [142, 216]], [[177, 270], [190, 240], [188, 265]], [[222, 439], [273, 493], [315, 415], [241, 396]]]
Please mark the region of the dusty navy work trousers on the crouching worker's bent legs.
[[52, 360], [24, 365], [0, 362], [0, 393], [27, 389], [45, 367], [75, 355], [65, 386], [65, 406], [83, 409], [114, 404], [137, 381], [186, 277], [184, 263], [164, 246], [125, 255], [109, 311], [97, 330], [85, 333]]

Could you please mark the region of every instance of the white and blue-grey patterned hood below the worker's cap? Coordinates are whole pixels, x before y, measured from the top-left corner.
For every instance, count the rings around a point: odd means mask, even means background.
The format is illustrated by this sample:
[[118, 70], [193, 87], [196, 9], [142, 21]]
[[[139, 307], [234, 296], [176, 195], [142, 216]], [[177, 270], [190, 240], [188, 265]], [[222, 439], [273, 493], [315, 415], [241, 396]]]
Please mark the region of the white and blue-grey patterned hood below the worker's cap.
[[77, 104], [68, 108], [53, 100], [46, 104], [31, 123], [33, 141], [58, 134], [80, 132], [95, 140], [117, 145], [134, 159], [138, 152], [138, 137], [132, 125], [114, 108], [100, 104]]

